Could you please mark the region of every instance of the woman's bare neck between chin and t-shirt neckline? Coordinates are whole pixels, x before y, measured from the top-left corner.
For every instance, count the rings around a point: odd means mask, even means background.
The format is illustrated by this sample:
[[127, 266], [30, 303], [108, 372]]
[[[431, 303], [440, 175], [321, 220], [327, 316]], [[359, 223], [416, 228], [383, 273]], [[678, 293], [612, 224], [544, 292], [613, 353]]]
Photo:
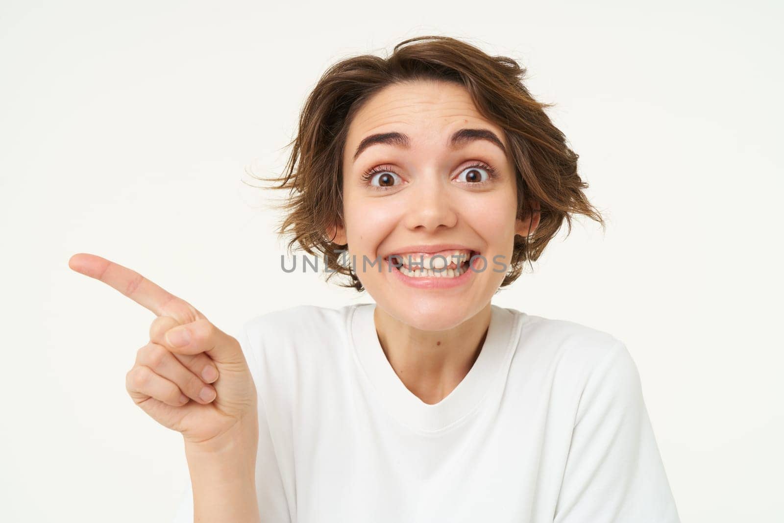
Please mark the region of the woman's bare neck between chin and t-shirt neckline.
[[376, 307], [379, 342], [405, 387], [428, 405], [446, 398], [466, 377], [485, 343], [492, 309], [485, 308], [454, 329], [415, 329]]

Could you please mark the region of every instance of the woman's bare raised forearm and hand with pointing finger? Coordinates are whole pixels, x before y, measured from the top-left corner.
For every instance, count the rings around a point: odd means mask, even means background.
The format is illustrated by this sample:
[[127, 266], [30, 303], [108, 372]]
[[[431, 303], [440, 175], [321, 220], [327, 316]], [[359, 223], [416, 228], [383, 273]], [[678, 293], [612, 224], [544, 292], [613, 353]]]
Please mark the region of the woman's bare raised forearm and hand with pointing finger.
[[[194, 521], [259, 521], [256, 387], [238, 340], [190, 303], [118, 263], [79, 253], [68, 267], [155, 314], [150, 343], [136, 352], [125, 387], [147, 415], [183, 434]], [[183, 332], [187, 338], [180, 338]]]

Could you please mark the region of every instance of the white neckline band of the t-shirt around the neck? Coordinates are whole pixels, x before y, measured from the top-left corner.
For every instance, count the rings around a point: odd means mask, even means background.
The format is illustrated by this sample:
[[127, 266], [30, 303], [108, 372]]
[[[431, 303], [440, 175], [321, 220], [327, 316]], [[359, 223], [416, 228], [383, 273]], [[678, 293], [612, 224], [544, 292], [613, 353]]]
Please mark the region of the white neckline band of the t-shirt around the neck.
[[365, 372], [376, 397], [398, 421], [420, 432], [445, 430], [469, 416], [509, 368], [517, 335], [516, 314], [491, 304], [490, 324], [485, 343], [469, 372], [448, 396], [428, 405], [413, 394], [392, 369], [376, 333], [373, 313], [376, 303], [354, 306], [349, 330], [354, 354]]

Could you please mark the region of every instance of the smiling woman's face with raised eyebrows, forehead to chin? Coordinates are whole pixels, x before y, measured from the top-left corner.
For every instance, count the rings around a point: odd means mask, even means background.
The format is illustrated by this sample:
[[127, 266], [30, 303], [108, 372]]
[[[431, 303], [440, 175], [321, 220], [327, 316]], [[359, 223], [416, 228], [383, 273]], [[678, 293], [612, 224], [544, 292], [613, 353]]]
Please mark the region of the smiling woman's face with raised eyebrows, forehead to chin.
[[[453, 83], [390, 85], [355, 114], [343, 151], [345, 227], [333, 233], [388, 314], [416, 329], [444, 330], [490, 302], [514, 235], [529, 233], [528, 220], [515, 219], [517, 182], [505, 151], [503, 130]], [[459, 267], [460, 254], [474, 257], [474, 269], [422, 271], [435, 254], [436, 269], [440, 258]], [[390, 264], [401, 261], [415, 272]]]

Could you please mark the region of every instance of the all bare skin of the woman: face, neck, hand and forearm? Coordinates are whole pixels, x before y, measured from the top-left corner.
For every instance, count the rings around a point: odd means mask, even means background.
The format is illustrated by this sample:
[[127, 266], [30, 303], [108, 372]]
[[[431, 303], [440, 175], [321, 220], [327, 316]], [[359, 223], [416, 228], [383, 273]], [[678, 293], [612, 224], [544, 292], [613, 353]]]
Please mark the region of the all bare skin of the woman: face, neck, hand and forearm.
[[[459, 150], [446, 145], [460, 128], [490, 129], [508, 149], [503, 131], [481, 117], [459, 86], [393, 85], [368, 100], [350, 123], [345, 148], [346, 227], [332, 231], [339, 243], [350, 245], [350, 255], [375, 260], [401, 245], [459, 243], [487, 260], [510, 259], [514, 234], [534, 231], [539, 215], [515, 220], [514, 167], [499, 148], [484, 141]], [[364, 136], [392, 130], [410, 136], [412, 147], [375, 145], [354, 162]], [[474, 160], [494, 167], [498, 177], [469, 187], [472, 182], [457, 176]], [[372, 180], [361, 179], [364, 169], [381, 163], [396, 169], [400, 187], [373, 191]], [[150, 343], [137, 351], [125, 385], [144, 412], [183, 434], [194, 521], [259, 521], [256, 387], [238, 340], [190, 303], [118, 263], [79, 253], [68, 266], [155, 314]], [[490, 299], [503, 272], [477, 272], [468, 285], [438, 290], [412, 289], [385, 271], [359, 277], [378, 303], [376, 331], [405, 386], [426, 403], [445, 398], [481, 350]], [[188, 336], [178, 340], [183, 332]]]

